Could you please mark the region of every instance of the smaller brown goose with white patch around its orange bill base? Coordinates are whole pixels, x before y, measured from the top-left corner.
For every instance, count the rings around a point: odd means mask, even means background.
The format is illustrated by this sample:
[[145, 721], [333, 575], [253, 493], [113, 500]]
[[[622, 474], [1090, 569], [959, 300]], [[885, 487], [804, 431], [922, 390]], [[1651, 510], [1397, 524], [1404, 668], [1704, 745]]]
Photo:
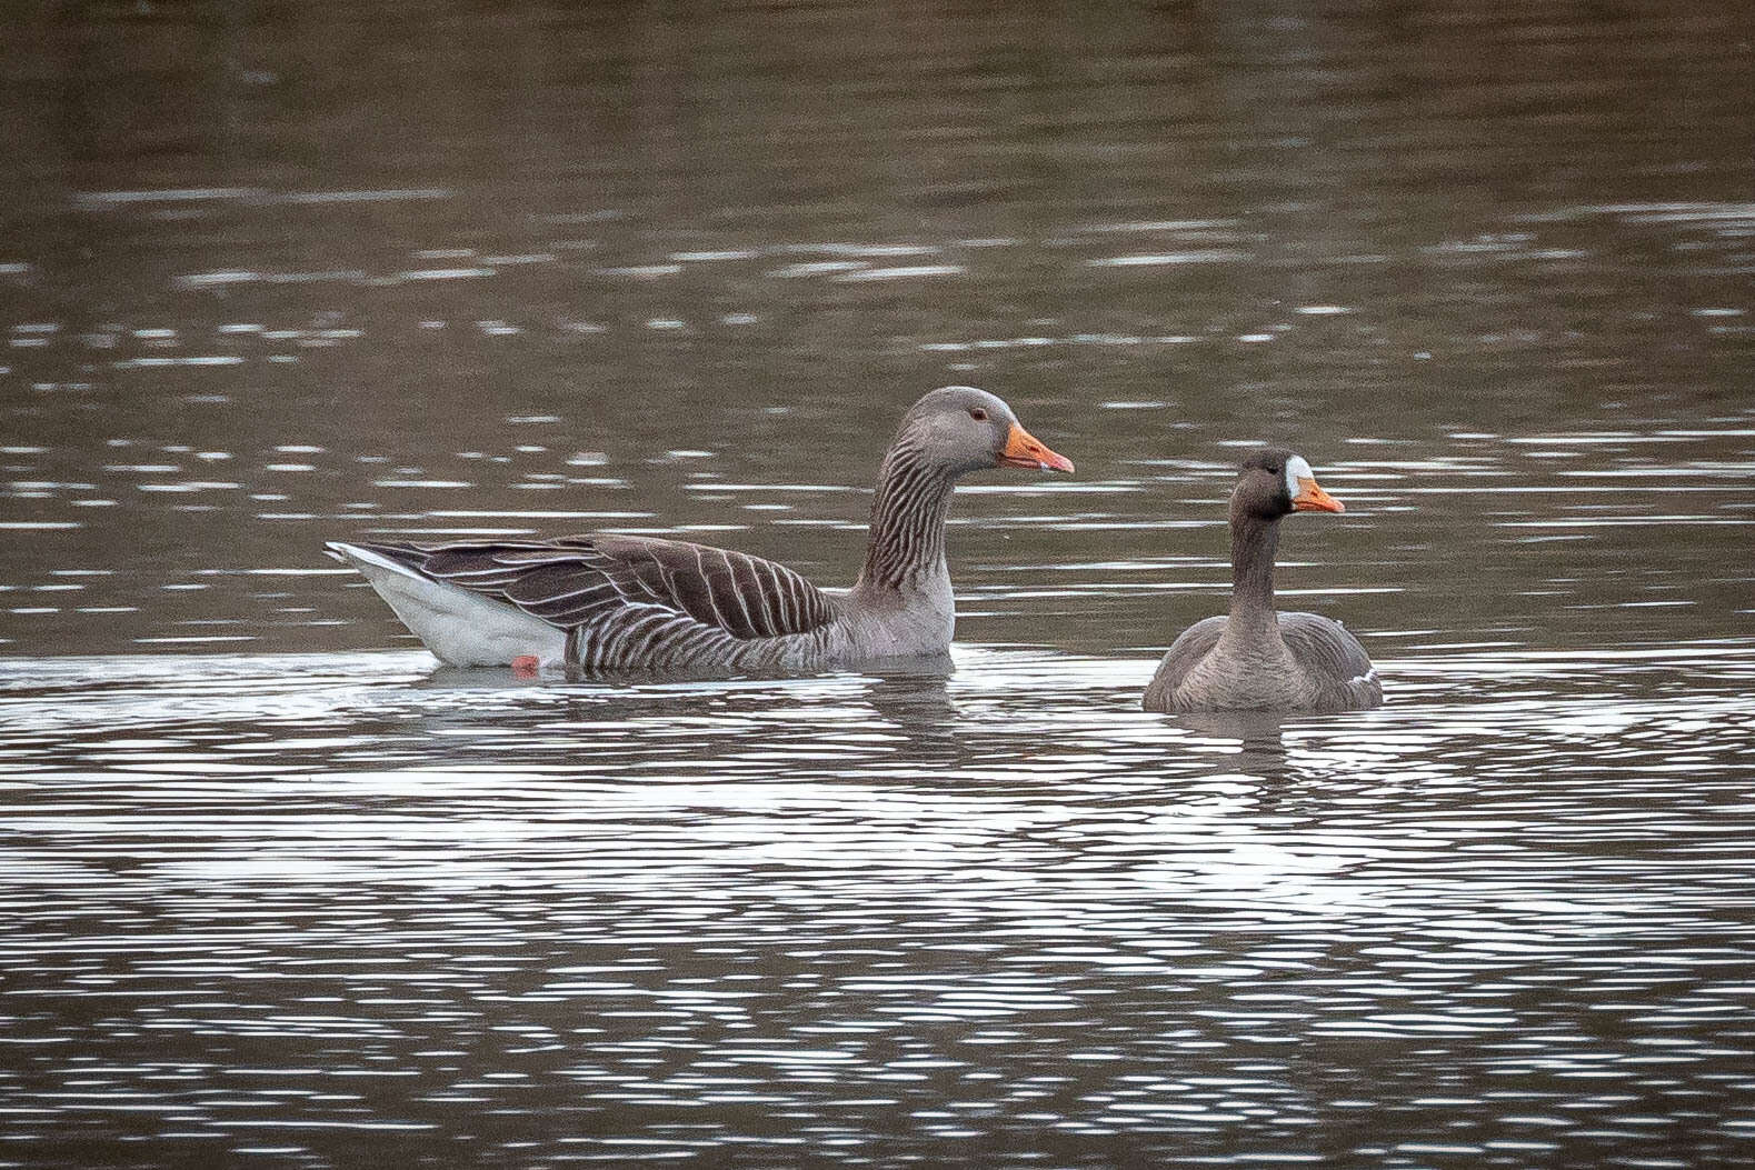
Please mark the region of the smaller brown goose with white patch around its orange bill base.
[[1183, 630], [1146, 710], [1364, 710], [1383, 703], [1365, 647], [1341, 623], [1274, 610], [1279, 519], [1344, 512], [1290, 451], [1257, 451], [1230, 495], [1230, 614]]

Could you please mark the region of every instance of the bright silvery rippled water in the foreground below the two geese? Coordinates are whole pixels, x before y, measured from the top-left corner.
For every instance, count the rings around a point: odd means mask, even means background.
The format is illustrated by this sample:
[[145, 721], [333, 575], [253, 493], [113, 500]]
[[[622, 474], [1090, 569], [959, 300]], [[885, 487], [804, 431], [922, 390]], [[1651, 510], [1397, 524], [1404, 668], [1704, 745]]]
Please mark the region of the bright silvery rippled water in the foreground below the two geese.
[[0, 668], [14, 1133], [1527, 1165], [1755, 1121], [1748, 644], [1408, 658], [1290, 721], [995, 649], [428, 667]]

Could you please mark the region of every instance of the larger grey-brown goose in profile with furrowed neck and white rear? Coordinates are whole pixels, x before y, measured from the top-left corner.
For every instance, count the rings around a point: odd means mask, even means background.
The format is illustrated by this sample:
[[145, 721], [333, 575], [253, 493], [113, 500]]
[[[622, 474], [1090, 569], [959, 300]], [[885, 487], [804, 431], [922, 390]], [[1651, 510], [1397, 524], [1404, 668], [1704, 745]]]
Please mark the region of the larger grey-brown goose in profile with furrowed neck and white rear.
[[851, 589], [683, 540], [591, 533], [488, 544], [344, 544], [402, 623], [453, 667], [749, 674], [942, 654], [956, 607], [944, 565], [951, 488], [990, 467], [1071, 472], [971, 386], [916, 402], [878, 475]]

